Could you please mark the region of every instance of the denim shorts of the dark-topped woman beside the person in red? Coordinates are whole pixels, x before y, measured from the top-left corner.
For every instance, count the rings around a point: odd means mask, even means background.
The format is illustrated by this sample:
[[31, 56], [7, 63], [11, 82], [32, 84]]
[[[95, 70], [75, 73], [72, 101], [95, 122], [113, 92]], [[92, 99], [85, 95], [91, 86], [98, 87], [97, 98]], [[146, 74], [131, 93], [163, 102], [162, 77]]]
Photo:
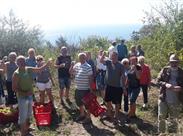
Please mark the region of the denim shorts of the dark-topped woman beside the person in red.
[[140, 87], [138, 88], [130, 88], [129, 87], [129, 97], [130, 97], [130, 104], [133, 104], [136, 102], [137, 97], [140, 93]]

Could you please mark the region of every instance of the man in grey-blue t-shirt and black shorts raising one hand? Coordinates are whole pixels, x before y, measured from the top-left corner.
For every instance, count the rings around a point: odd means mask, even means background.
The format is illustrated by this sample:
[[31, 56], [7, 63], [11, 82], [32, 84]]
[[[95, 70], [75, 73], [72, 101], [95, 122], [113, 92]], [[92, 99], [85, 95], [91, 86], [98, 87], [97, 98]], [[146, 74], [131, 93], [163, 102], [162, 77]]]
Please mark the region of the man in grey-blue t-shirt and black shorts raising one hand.
[[[112, 103], [115, 104], [114, 121], [119, 121], [119, 110], [122, 99], [123, 91], [126, 94], [125, 86], [125, 71], [123, 65], [118, 62], [118, 53], [113, 52], [111, 54], [111, 60], [105, 60], [104, 54], [101, 57], [101, 63], [106, 65], [106, 94], [105, 101], [107, 102], [108, 117], [112, 118]], [[122, 80], [121, 80], [122, 78]], [[114, 123], [115, 123], [114, 122]]]

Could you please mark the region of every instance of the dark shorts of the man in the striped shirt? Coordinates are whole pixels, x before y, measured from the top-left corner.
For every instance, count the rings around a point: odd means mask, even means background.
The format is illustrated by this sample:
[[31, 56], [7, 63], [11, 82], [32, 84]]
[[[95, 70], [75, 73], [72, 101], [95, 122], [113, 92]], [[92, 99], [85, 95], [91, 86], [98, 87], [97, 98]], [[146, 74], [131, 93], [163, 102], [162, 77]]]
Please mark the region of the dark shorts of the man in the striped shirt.
[[82, 99], [83, 97], [88, 94], [90, 92], [90, 90], [78, 90], [76, 89], [76, 92], [75, 92], [75, 101], [76, 101], [76, 104], [77, 106], [83, 106], [83, 102], [82, 102]]

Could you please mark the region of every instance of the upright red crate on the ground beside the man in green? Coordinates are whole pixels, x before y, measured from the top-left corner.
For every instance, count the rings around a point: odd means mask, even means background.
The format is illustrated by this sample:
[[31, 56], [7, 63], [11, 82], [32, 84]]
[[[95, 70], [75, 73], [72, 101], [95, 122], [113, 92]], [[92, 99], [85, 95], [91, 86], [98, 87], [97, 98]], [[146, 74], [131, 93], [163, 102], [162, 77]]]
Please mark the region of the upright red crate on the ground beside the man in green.
[[33, 104], [34, 117], [36, 119], [37, 126], [49, 126], [51, 124], [51, 114], [53, 111], [52, 103], [45, 103], [41, 106], [41, 103]]

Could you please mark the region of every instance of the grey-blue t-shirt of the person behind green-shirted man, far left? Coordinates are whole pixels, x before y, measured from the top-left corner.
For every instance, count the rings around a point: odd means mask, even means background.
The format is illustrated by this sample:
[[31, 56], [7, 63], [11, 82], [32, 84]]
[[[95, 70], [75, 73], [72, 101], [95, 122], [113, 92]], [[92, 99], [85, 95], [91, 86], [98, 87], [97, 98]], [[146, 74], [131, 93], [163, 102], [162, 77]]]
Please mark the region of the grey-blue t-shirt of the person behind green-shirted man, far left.
[[17, 64], [16, 63], [12, 63], [12, 62], [7, 62], [6, 63], [6, 66], [7, 66], [7, 75], [6, 75], [6, 80], [8, 82], [12, 82], [12, 76], [13, 76], [13, 73], [15, 72], [15, 70], [18, 68]]

